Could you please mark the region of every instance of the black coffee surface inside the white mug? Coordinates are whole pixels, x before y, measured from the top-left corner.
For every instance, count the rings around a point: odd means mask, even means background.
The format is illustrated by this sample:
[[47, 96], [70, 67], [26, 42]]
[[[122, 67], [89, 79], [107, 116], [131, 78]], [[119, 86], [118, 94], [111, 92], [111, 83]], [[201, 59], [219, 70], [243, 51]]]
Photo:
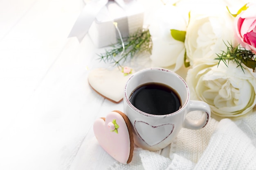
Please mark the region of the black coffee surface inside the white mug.
[[177, 92], [162, 83], [146, 83], [132, 92], [130, 102], [137, 109], [153, 114], [167, 115], [181, 108]]

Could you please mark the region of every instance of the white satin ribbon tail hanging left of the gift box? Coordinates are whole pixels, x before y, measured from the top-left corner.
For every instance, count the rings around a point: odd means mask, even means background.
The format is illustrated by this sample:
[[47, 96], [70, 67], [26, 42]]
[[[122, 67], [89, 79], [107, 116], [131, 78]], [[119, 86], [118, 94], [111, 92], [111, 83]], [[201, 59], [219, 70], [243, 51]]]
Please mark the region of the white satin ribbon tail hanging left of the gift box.
[[97, 17], [97, 14], [108, 3], [108, 0], [91, 1], [85, 5], [81, 14], [77, 18], [68, 37], [77, 37], [79, 42], [88, 33], [92, 22]]

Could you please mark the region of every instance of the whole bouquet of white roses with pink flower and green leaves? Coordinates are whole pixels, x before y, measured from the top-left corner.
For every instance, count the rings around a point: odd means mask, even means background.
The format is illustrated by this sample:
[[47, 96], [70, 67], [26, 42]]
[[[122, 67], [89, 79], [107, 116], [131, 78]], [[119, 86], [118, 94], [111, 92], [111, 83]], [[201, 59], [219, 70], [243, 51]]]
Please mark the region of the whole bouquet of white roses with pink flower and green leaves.
[[195, 99], [220, 117], [256, 105], [256, 4], [243, 0], [180, 0], [159, 9], [149, 27], [150, 59], [173, 71], [189, 67]]

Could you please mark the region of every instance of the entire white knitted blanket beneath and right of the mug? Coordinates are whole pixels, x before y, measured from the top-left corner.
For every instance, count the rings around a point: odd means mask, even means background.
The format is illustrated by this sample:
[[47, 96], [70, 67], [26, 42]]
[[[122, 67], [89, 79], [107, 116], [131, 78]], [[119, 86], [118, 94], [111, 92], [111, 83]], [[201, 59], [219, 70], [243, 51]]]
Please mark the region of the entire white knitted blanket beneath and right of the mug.
[[200, 130], [182, 129], [159, 152], [135, 148], [132, 161], [110, 170], [256, 170], [256, 112], [237, 121], [211, 118]]

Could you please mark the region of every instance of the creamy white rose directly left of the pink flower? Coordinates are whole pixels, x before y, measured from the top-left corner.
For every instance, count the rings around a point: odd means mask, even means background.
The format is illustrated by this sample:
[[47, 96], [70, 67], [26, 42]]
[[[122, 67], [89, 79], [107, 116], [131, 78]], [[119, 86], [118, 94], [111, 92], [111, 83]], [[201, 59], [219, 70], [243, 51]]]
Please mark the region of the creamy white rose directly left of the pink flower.
[[185, 47], [191, 65], [195, 59], [216, 58], [216, 54], [227, 50], [225, 43], [237, 45], [233, 30], [234, 17], [225, 6], [217, 5], [204, 10], [204, 13], [203, 10], [200, 13], [191, 11], [186, 30]]

